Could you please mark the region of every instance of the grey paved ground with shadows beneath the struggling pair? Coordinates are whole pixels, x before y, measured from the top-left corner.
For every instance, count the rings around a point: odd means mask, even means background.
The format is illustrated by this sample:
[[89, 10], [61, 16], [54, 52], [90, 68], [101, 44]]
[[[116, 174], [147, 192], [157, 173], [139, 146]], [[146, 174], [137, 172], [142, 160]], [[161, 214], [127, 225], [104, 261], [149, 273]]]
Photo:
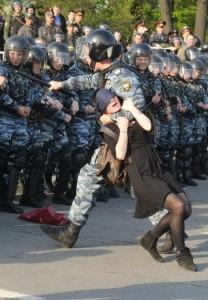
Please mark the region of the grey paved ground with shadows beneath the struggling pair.
[[0, 299], [207, 300], [208, 182], [187, 193], [193, 204], [187, 245], [197, 273], [180, 269], [174, 254], [160, 264], [138, 246], [150, 223], [132, 218], [127, 194], [98, 203], [71, 250], [44, 236], [38, 224], [0, 213]]

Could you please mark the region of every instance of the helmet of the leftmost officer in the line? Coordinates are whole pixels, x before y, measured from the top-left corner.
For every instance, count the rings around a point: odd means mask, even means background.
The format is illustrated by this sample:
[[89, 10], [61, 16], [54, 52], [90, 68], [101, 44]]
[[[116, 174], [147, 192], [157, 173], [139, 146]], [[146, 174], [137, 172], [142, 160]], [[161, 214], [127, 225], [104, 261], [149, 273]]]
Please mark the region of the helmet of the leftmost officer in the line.
[[17, 51], [23, 53], [22, 64], [25, 64], [28, 59], [30, 45], [23, 36], [13, 35], [5, 44], [5, 57], [9, 61], [9, 51]]

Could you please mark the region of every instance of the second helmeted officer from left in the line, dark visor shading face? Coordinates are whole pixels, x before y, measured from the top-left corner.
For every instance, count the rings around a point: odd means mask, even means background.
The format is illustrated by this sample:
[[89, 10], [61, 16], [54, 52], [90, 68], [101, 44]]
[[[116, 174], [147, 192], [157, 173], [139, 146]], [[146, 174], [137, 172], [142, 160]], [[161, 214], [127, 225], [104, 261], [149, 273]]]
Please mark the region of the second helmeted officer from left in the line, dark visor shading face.
[[[41, 79], [46, 54], [38, 46], [31, 46], [26, 64], [26, 71]], [[32, 106], [31, 114], [27, 120], [27, 132], [29, 143], [27, 147], [26, 165], [24, 169], [24, 190], [21, 205], [42, 207], [43, 206], [43, 172], [45, 164], [44, 141], [40, 130], [41, 111], [48, 107], [47, 98], [41, 93], [39, 84], [31, 82], [34, 88], [36, 101]], [[40, 101], [37, 99], [39, 98]]]

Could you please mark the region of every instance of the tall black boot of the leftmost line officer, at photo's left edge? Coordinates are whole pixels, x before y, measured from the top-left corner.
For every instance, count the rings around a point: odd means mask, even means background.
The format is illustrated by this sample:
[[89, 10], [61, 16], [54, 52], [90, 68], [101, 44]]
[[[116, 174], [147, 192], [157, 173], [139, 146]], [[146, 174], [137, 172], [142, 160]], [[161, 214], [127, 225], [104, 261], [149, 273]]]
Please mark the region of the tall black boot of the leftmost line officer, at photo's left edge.
[[17, 183], [19, 180], [19, 171], [15, 168], [12, 168], [8, 175], [8, 184], [6, 186], [2, 204], [0, 207], [1, 211], [13, 213], [13, 214], [21, 214], [23, 210], [13, 203], [16, 196]]

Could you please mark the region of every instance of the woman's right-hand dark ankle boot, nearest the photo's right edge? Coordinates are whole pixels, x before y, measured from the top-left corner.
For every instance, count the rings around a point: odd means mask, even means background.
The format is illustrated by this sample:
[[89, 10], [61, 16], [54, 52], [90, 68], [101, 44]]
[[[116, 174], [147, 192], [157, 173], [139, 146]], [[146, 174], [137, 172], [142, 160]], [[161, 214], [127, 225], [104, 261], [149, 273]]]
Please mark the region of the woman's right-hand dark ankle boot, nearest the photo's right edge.
[[197, 271], [197, 266], [193, 262], [193, 257], [189, 248], [185, 247], [183, 250], [177, 250], [176, 260], [181, 268], [188, 271]]

